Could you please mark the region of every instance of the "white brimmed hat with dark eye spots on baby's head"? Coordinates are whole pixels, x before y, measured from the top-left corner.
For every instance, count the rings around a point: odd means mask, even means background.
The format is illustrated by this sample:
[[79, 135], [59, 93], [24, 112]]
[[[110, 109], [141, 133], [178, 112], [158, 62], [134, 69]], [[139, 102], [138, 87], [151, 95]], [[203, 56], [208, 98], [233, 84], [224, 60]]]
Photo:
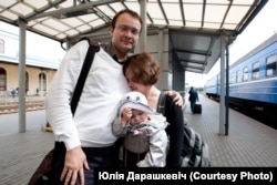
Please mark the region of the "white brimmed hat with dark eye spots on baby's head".
[[148, 106], [147, 100], [145, 95], [140, 92], [132, 91], [125, 94], [122, 99], [122, 104], [119, 109], [119, 115], [122, 114], [125, 107], [131, 107], [135, 110], [140, 110], [150, 114], [154, 114], [155, 112]]

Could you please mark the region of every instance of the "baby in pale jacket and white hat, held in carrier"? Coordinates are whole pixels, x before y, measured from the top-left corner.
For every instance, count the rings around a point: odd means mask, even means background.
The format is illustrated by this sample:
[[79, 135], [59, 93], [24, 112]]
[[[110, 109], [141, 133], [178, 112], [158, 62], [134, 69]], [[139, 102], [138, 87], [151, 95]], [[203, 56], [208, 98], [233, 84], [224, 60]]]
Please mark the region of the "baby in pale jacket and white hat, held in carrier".
[[123, 166], [164, 167], [167, 146], [166, 126], [165, 117], [148, 106], [142, 93], [135, 91], [127, 93], [113, 122], [113, 133], [124, 137]]

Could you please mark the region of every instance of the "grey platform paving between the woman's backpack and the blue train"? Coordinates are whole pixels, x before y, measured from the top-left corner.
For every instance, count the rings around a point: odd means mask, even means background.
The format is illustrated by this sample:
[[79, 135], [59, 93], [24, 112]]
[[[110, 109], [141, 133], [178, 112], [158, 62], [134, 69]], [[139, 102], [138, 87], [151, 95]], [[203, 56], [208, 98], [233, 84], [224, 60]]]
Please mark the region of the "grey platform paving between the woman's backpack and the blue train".
[[277, 166], [277, 130], [229, 109], [228, 135], [219, 134], [217, 102], [199, 94], [202, 114], [185, 102], [184, 116], [208, 144], [212, 166]]

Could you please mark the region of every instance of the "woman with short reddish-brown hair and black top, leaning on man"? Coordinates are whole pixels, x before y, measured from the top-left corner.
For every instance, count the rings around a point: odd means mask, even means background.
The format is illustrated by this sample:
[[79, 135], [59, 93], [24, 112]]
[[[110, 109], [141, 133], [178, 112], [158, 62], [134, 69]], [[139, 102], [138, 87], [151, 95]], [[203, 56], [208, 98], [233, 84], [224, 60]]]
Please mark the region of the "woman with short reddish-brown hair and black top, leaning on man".
[[[124, 63], [123, 74], [131, 90], [143, 93], [147, 99], [148, 105], [156, 111], [162, 93], [154, 85], [160, 76], [158, 62], [146, 52], [134, 54]], [[166, 167], [178, 167], [184, 137], [184, 117], [182, 107], [175, 104], [173, 96], [166, 95], [164, 116], [170, 123], [166, 127], [170, 140]]]

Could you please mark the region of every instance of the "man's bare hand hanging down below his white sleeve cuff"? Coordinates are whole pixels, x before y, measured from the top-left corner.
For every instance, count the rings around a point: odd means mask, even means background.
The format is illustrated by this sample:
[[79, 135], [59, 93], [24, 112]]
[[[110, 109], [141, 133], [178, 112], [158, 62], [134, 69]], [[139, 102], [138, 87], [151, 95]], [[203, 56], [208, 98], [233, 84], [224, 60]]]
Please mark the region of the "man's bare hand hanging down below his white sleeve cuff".
[[64, 185], [74, 185], [79, 176], [80, 184], [84, 185], [84, 168], [89, 169], [89, 164], [81, 146], [68, 151], [65, 154], [61, 181], [64, 181]]

